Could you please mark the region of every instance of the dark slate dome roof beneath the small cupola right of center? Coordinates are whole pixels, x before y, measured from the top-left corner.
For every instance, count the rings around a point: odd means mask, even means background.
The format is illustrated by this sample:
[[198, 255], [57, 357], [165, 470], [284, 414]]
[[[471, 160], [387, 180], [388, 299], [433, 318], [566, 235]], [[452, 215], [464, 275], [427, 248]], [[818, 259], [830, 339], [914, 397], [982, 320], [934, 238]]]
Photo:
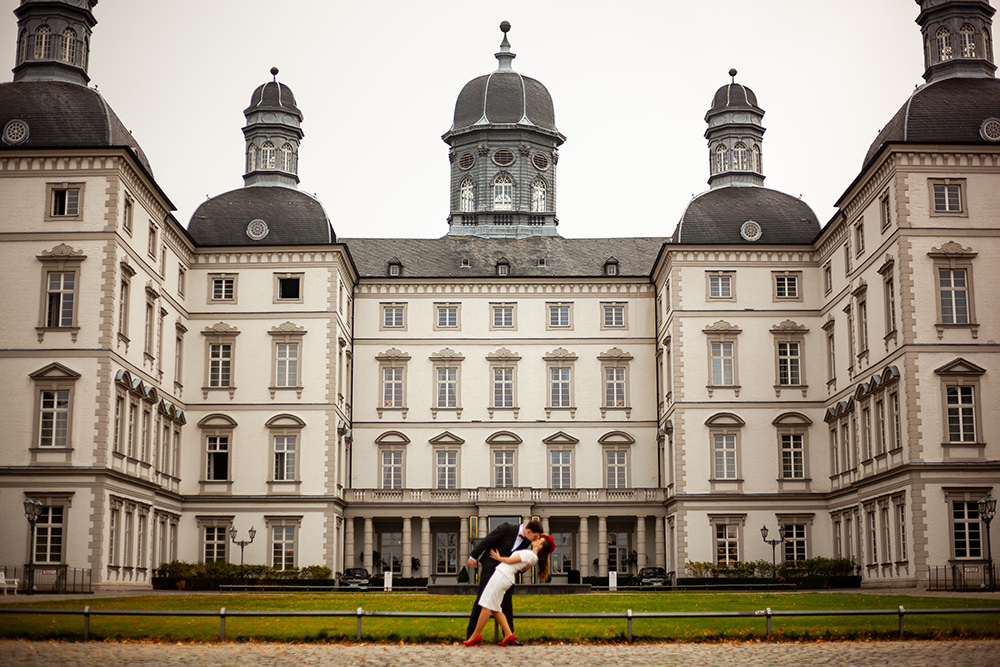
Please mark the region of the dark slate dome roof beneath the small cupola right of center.
[[[747, 220], [757, 222], [757, 241], [740, 236]], [[674, 232], [677, 243], [801, 244], [819, 233], [819, 220], [809, 205], [784, 192], [761, 187], [727, 186], [704, 192], [688, 203]]]

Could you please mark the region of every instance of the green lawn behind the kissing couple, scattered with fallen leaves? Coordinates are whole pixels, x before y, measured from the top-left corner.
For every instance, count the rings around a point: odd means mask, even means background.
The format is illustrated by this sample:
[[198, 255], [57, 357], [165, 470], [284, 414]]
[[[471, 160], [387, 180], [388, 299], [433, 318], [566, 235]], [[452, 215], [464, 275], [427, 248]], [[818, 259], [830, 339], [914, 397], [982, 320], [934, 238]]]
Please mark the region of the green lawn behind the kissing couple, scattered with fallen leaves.
[[[22, 598], [23, 600], [23, 598]], [[467, 613], [471, 596], [410, 595], [401, 593], [151, 595], [46, 602], [4, 601], [5, 608], [126, 610], [205, 610], [227, 612], [345, 611], [363, 607], [373, 611], [435, 611]], [[515, 612], [634, 613], [774, 611], [841, 609], [978, 609], [1000, 611], [1000, 600], [921, 598], [844, 593], [644, 593], [591, 595], [524, 595], [515, 598]], [[908, 638], [1000, 637], [1000, 613], [908, 616]], [[375, 642], [453, 642], [464, 639], [465, 618], [377, 618], [363, 621], [362, 639]], [[898, 636], [893, 616], [834, 616], [772, 619], [778, 640], [866, 639]], [[492, 625], [485, 633], [492, 636]], [[626, 638], [626, 620], [522, 618], [517, 635], [529, 642], [616, 642]], [[357, 619], [351, 618], [233, 618], [226, 619], [231, 641], [311, 642], [355, 640]], [[766, 639], [766, 623], [758, 618], [633, 619], [635, 641], [719, 641]], [[83, 617], [65, 615], [0, 614], [0, 638], [81, 639]], [[92, 616], [91, 639], [215, 641], [219, 618]]]

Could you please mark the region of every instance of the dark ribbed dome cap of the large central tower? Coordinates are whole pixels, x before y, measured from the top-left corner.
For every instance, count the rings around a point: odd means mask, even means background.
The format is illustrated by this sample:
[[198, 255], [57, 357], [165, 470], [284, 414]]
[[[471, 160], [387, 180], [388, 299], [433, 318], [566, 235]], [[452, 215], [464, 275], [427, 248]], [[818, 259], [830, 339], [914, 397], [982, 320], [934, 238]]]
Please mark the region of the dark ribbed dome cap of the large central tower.
[[451, 132], [483, 118], [491, 124], [515, 124], [527, 118], [536, 127], [559, 132], [549, 91], [540, 81], [517, 72], [493, 72], [465, 84], [455, 102]]

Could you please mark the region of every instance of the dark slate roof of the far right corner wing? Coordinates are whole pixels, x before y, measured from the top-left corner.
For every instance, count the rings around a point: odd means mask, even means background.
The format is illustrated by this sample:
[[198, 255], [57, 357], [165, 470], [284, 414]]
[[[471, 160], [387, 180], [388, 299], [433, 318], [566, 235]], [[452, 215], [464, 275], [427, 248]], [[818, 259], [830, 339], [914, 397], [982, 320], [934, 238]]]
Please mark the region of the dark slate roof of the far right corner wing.
[[865, 155], [864, 166], [888, 143], [985, 144], [983, 121], [1000, 118], [1000, 80], [951, 78], [917, 88]]

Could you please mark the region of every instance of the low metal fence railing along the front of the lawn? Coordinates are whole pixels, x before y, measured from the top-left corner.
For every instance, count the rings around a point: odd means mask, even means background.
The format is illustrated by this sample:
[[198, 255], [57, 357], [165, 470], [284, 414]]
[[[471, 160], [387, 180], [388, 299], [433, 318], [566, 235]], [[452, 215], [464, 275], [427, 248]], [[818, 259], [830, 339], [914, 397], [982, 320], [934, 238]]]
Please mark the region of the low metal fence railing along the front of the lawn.
[[[82, 616], [83, 617], [83, 640], [90, 639], [90, 619], [92, 616], [193, 616], [209, 617], [219, 619], [219, 641], [226, 641], [226, 619], [227, 618], [357, 618], [356, 639], [362, 639], [362, 621], [365, 618], [461, 618], [466, 619], [469, 615], [465, 612], [457, 611], [375, 611], [358, 607], [355, 610], [345, 611], [228, 611], [222, 607], [218, 611], [187, 611], [187, 610], [149, 610], [149, 609], [91, 609], [86, 606], [83, 609], [25, 609], [0, 607], [0, 614], [39, 614], [51, 616]], [[897, 609], [826, 609], [814, 611], [782, 611], [774, 610], [770, 607], [758, 611], [722, 611], [722, 612], [660, 612], [644, 611], [633, 612], [631, 609], [624, 612], [601, 612], [601, 613], [528, 613], [518, 614], [518, 620], [528, 618], [542, 619], [602, 619], [602, 620], [624, 620], [626, 622], [626, 635], [628, 641], [632, 641], [632, 621], [636, 619], [652, 618], [762, 618], [766, 622], [767, 636], [774, 636], [772, 620], [775, 618], [803, 618], [816, 616], [896, 616], [899, 619], [899, 637], [902, 639], [905, 633], [904, 619], [906, 616], [943, 616], [951, 614], [997, 614], [1000, 615], [1000, 607], [985, 607], [977, 609], [904, 609], [900, 605]], [[498, 630], [495, 629], [496, 633]]]

